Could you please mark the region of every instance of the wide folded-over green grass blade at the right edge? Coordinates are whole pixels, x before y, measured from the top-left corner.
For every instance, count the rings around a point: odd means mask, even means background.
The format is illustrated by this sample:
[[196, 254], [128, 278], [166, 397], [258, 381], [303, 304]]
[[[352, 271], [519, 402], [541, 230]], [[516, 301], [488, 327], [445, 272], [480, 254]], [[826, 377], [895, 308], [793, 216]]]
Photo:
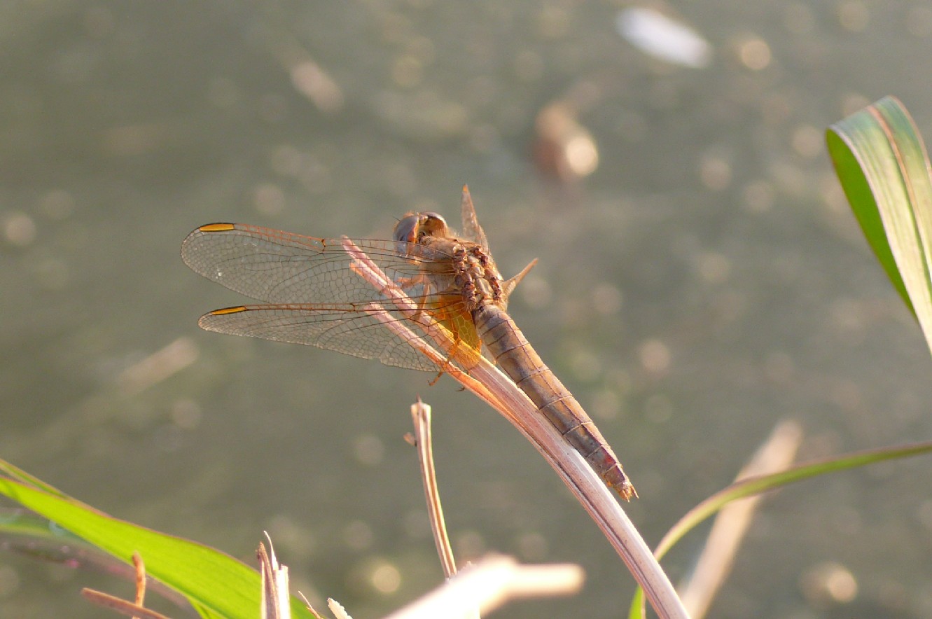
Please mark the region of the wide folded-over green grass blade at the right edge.
[[826, 133], [829, 155], [870, 247], [932, 349], [932, 179], [922, 136], [885, 97]]

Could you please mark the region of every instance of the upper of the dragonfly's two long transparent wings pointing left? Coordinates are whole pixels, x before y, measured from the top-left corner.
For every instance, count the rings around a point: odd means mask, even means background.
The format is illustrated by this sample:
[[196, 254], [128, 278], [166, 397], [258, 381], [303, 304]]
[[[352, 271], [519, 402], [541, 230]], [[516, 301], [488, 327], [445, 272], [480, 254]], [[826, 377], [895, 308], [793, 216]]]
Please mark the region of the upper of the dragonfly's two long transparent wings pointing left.
[[[441, 260], [429, 249], [408, 244], [355, 241], [394, 282], [417, 282], [420, 262]], [[275, 304], [368, 303], [384, 296], [350, 268], [339, 239], [318, 239], [245, 224], [201, 226], [182, 243], [185, 264], [230, 290]], [[423, 291], [406, 289], [409, 296]]]

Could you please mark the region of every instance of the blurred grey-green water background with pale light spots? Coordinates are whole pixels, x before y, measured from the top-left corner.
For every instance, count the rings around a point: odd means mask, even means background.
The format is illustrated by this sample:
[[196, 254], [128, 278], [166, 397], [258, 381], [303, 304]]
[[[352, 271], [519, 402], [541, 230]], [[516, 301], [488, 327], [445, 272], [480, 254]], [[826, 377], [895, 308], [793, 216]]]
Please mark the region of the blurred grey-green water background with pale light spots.
[[[419, 394], [459, 558], [587, 573], [577, 598], [496, 616], [623, 616], [620, 559], [452, 380], [197, 327], [242, 299], [182, 264], [193, 227], [384, 235], [412, 209], [455, 221], [463, 183], [506, 274], [541, 259], [512, 313], [624, 461], [649, 543], [780, 420], [800, 424], [801, 459], [932, 435], [929, 353], [822, 137], [886, 94], [932, 131], [932, 9], [660, 7], [706, 40], [691, 67], [626, 39], [631, 7], [0, 4], [0, 456], [247, 561], [268, 530], [296, 588], [363, 619], [442, 579], [402, 440]], [[554, 103], [596, 145], [594, 173], [535, 165], [535, 118]], [[712, 615], [929, 616], [930, 470], [774, 495]], [[702, 537], [665, 562], [675, 580]], [[99, 616], [82, 585], [130, 593], [0, 556], [6, 616]]]

